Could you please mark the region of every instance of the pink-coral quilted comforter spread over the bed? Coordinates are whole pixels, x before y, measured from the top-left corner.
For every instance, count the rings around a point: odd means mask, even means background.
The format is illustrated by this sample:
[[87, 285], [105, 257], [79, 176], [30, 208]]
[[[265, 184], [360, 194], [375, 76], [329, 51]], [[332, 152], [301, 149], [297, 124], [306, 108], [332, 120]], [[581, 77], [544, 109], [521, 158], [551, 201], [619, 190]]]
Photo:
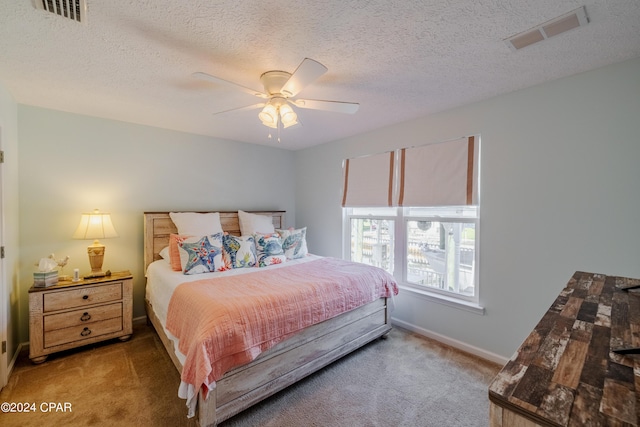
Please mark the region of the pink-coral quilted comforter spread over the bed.
[[186, 355], [182, 381], [198, 390], [308, 326], [397, 293], [382, 269], [321, 258], [183, 283], [169, 302], [167, 329]]

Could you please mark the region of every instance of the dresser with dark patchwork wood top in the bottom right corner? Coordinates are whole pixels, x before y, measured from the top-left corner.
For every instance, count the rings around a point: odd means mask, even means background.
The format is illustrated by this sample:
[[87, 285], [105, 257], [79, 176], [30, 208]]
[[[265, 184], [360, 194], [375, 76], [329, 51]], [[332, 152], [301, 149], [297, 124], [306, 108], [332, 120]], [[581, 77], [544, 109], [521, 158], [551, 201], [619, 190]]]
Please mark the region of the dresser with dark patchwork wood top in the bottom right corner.
[[489, 386], [491, 427], [637, 426], [640, 280], [576, 272]]

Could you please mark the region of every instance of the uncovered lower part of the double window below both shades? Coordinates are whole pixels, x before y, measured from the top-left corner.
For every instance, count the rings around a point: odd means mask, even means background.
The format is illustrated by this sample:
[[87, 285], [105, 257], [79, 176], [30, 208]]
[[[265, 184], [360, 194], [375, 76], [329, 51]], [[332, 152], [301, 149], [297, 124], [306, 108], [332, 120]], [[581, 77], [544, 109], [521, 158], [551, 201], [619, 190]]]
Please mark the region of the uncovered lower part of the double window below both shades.
[[345, 254], [407, 287], [477, 303], [476, 206], [345, 208]]

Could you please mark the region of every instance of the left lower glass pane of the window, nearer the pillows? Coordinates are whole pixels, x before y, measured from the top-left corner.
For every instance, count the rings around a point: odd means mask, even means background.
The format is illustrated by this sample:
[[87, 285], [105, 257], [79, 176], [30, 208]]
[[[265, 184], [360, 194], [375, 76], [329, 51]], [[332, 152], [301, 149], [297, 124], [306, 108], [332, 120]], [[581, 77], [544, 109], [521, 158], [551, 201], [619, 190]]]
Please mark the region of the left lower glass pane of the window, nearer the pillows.
[[351, 219], [351, 261], [393, 274], [393, 224], [386, 219]]

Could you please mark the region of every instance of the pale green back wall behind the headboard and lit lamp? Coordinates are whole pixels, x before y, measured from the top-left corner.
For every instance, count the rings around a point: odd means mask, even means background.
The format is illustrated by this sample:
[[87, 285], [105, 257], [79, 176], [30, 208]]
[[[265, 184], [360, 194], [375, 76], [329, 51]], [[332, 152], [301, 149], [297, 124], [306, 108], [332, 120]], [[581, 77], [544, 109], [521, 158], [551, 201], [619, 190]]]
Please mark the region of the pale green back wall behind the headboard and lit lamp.
[[286, 210], [295, 225], [290, 151], [20, 105], [20, 339], [28, 341], [34, 264], [54, 252], [89, 272], [91, 243], [72, 240], [82, 212], [111, 212], [118, 238], [103, 269], [134, 274], [144, 315], [143, 213]]

